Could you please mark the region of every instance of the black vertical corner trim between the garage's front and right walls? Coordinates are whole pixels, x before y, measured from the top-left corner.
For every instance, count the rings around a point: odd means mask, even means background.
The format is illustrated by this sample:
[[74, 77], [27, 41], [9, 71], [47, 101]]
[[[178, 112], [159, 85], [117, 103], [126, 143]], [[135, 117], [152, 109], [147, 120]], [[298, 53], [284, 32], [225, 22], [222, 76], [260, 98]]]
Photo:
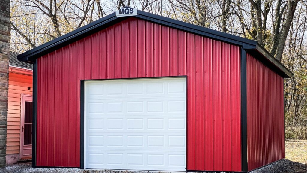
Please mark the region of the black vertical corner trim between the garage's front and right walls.
[[242, 172], [247, 172], [247, 75], [246, 51], [241, 48], [241, 162]]

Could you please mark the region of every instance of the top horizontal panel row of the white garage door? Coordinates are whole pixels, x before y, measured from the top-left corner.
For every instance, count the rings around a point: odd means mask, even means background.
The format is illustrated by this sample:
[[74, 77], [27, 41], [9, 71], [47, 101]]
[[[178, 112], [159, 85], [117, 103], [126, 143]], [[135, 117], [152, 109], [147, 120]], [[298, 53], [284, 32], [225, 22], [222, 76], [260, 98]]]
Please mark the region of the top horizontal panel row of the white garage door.
[[[146, 82], [144, 82], [146, 80]], [[99, 81], [87, 82], [87, 99], [105, 99], [106, 96], [112, 97], [112, 99], [120, 99], [122, 96], [125, 98], [131, 97], [177, 97], [178, 94], [185, 94], [186, 82], [185, 78], [171, 79], [168, 81], [157, 82], [159, 79], [144, 79], [143, 81], [129, 81], [123, 83], [123, 80], [116, 81], [104, 81], [100, 84]]]

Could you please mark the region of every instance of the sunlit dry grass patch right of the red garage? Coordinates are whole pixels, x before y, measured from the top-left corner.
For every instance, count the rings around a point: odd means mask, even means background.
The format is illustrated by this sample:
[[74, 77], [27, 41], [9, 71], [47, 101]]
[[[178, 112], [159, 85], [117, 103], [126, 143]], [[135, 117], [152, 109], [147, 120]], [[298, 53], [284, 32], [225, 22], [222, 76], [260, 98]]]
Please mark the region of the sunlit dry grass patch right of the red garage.
[[286, 159], [307, 164], [307, 140], [287, 139]]

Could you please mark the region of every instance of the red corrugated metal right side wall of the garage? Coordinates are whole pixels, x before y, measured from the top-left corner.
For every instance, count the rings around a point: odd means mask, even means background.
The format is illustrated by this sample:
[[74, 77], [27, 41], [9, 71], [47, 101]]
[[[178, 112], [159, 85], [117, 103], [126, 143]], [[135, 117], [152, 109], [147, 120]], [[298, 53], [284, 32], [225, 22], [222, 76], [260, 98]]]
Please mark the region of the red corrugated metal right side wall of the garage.
[[248, 170], [285, 158], [284, 79], [247, 54]]

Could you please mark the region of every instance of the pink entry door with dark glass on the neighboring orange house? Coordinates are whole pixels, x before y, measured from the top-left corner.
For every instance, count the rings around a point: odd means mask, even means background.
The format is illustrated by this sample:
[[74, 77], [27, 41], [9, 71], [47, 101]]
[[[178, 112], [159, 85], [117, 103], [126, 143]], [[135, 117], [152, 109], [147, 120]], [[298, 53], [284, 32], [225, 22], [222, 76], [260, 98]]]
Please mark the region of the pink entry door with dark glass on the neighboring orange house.
[[19, 159], [32, 158], [32, 95], [21, 95]]

